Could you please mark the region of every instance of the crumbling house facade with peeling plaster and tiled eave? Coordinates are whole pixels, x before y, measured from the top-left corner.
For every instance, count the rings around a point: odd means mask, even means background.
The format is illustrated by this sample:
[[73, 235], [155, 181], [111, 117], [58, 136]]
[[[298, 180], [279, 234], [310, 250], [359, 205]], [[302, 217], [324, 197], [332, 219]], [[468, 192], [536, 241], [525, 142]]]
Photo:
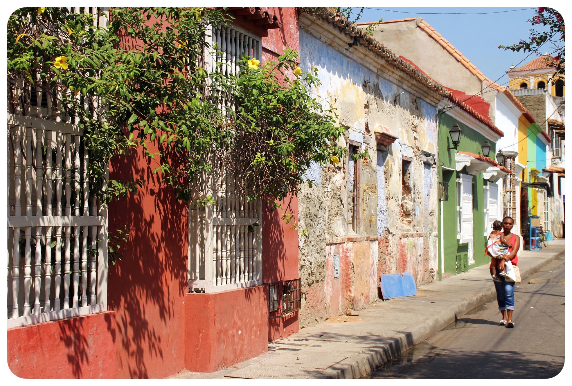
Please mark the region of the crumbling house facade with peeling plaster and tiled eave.
[[300, 15], [300, 59], [348, 150], [312, 168], [299, 196], [300, 325], [311, 325], [379, 299], [380, 274], [438, 280], [437, 106], [448, 91], [333, 14]]

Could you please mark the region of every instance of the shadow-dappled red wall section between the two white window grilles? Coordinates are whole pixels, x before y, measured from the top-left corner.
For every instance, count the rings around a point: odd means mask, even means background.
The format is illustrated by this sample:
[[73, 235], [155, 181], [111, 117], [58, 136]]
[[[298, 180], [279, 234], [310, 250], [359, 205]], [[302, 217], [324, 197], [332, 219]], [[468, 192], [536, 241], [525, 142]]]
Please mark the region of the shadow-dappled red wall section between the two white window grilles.
[[188, 206], [153, 174], [157, 162], [137, 149], [110, 167], [110, 178], [147, 181], [137, 194], [109, 205], [109, 232], [126, 224], [130, 233], [121, 261], [109, 268], [108, 306], [117, 313], [120, 378], [162, 378], [185, 365]]

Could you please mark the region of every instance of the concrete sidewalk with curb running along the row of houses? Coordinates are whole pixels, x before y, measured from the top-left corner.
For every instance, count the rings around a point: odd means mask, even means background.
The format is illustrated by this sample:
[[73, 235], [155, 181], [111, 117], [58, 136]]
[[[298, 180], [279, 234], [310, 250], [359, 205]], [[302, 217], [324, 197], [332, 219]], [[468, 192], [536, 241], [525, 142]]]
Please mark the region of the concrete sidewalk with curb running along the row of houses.
[[[521, 251], [523, 280], [563, 253], [564, 239], [537, 252]], [[416, 296], [378, 300], [359, 316], [333, 317], [303, 328], [269, 343], [267, 353], [232, 367], [213, 373], [182, 371], [172, 378], [360, 378], [492, 299], [494, 285], [488, 265], [483, 265], [420, 286]], [[517, 303], [515, 321], [518, 311]]]

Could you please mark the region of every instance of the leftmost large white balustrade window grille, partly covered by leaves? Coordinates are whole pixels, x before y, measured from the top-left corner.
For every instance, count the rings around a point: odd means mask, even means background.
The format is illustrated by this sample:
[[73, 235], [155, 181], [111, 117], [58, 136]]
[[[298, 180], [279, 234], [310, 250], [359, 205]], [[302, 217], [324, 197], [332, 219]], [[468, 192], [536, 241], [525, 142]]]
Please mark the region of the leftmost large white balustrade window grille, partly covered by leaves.
[[[8, 328], [107, 309], [107, 208], [90, 191], [78, 118], [35, 75], [9, 80]], [[100, 99], [82, 104], [103, 119]]]

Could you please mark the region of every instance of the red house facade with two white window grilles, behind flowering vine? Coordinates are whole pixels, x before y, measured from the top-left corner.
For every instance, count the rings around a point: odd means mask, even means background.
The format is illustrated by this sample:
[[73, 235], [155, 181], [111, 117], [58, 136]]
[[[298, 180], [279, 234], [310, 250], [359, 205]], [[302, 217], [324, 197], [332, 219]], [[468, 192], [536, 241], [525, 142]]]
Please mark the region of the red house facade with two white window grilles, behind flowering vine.
[[[233, 22], [207, 37], [222, 52], [206, 58], [208, 71], [217, 61], [236, 69], [243, 53], [264, 62], [284, 46], [299, 50], [296, 9], [229, 11]], [[100, 12], [105, 26], [108, 13]], [[189, 208], [153, 174], [142, 148], [114, 159], [109, 175], [146, 184], [103, 205], [89, 192], [81, 130], [49, 100], [38, 102], [39, 86], [33, 91], [35, 100], [14, 83], [16, 102], [8, 106], [7, 357], [15, 375], [215, 371], [298, 331], [297, 231], [276, 211], [232, 196], [228, 179], [208, 187], [216, 205]], [[261, 226], [248, 232], [255, 223]], [[124, 225], [122, 259], [109, 265], [108, 229]]]

